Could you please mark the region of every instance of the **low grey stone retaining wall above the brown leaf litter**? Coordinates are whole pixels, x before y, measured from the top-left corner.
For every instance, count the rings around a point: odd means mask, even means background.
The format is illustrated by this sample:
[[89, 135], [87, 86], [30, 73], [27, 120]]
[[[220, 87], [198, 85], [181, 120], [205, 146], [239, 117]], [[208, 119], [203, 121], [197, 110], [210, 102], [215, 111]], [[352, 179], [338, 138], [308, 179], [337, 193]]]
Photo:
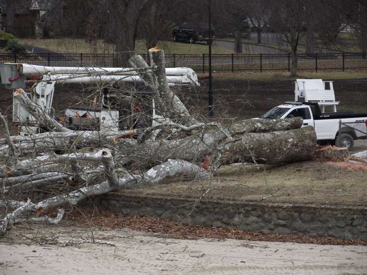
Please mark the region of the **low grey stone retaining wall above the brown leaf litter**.
[[125, 215], [151, 215], [187, 224], [241, 230], [367, 240], [367, 208], [219, 202], [107, 194], [95, 199]]

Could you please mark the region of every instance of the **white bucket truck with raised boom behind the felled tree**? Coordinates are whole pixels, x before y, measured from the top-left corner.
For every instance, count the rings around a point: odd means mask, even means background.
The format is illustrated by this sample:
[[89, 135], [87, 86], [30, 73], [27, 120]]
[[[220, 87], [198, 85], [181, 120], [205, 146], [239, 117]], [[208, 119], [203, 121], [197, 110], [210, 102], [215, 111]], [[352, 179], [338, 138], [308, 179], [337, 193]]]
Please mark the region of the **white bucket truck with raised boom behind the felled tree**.
[[[99, 67], [47, 67], [30, 64], [0, 65], [2, 84], [6, 89], [25, 88], [27, 78], [37, 77], [37, 84], [28, 96], [42, 106], [44, 111], [54, 116], [53, 98], [55, 84], [93, 83], [93, 82], [130, 82], [142, 83], [136, 69], [99, 68]], [[190, 68], [166, 68], [169, 86], [199, 86], [196, 73]], [[33, 80], [34, 81], [34, 80]], [[127, 96], [127, 97], [126, 97]], [[123, 130], [154, 126], [166, 121], [155, 113], [154, 92], [137, 90], [125, 95], [118, 91], [103, 89], [100, 101], [94, 98], [92, 106], [73, 106], [59, 118], [64, 125], [74, 130]], [[19, 126], [20, 134], [42, 132], [37, 121], [20, 102], [13, 98], [13, 123]]]

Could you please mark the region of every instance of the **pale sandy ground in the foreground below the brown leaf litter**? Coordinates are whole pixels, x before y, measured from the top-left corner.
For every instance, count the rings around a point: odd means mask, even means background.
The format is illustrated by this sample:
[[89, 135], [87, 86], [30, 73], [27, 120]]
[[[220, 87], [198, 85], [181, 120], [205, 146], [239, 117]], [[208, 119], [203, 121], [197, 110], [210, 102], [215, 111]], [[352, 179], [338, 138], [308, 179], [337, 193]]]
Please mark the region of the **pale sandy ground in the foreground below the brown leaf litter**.
[[[0, 242], [0, 274], [367, 274], [362, 245], [182, 240], [67, 225], [40, 229], [17, 227]], [[115, 246], [76, 244], [92, 234]]]

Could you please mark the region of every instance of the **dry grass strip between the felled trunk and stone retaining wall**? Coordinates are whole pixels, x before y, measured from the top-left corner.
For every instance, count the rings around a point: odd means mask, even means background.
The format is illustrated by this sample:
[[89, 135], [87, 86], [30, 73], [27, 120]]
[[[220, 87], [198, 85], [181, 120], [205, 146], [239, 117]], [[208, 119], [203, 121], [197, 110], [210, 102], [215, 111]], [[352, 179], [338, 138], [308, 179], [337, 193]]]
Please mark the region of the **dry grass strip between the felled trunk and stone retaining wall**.
[[204, 200], [365, 206], [365, 173], [337, 162], [305, 161], [258, 169], [222, 166], [210, 180], [172, 178], [123, 194], [200, 200], [206, 192]]

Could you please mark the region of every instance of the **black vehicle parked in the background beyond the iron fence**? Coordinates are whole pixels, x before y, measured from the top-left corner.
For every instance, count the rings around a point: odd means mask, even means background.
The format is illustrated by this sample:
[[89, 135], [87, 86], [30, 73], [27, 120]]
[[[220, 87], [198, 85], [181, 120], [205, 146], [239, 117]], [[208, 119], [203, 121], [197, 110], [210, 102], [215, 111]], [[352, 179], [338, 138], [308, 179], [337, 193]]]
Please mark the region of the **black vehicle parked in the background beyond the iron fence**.
[[[196, 41], [209, 41], [208, 24], [190, 24], [183, 23], [172, 31], [173, 41], [188, 41], [195, 43]], [[215, 29], [212, 26], [212, 39], [215, 39]]]

